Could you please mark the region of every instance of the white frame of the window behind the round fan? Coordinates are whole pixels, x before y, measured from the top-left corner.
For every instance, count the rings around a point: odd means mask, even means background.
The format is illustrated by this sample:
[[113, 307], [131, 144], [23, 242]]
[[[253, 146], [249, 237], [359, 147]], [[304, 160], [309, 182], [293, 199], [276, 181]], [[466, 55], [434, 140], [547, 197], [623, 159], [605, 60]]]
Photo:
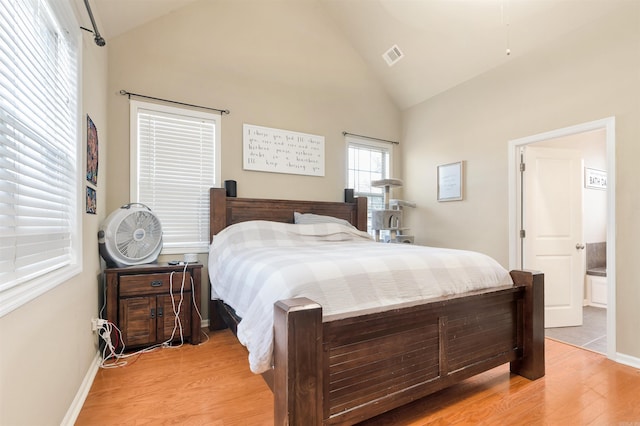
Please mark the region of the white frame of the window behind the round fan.
[[[138, 170], [140, 167], [140, 159], [139, 159], [139, 143], [138, 143], [138, 113], [140, 110], [153, 111], [158, 113], [166, 113], [172, 115], [182, 115], [189, 118], [201, 118], [208, 121], [213, 121], [215, 126], [214, 131], [214, 177], [213, 182], [206, 183], [207, 187], [215, 187], [218, 186], [220, 182], [221, 176], [221, 133], [222, 133], [222, 120], [219, 114], [199, 111], [195, 109], [189, 108], [179, 108], [168, 105], [161, 105], [150, 102], [136, 101], [130, 100], [130, 141], [131, 141], [131, 201], [135, 203], [145, 203], [144, 200], [140, 200], [139, 198], [139, 185], [138, 185]], [[180, 162], [180, 152], [177, 151], [175, 153], [176, 162]], [[208, 195], [208, 192], [207, 192]], [[153, 211], [153, 206], [148, 205]], [[208, 212], [208, 203], [207, 203], [207, 212]], [[208, 213], [207, 213], [208, 215]], [[159, 215], [160, 216], [160, 215]], [[162, 223], [162, 217], [159, 217], [160, 223], [163, 225], [164, 232], [164, 224]], [[208, 234], [208, 233], [207, 233]], [[161, 254], [182, 254], [182, 253], [207, 253], [209, 248], [209, 241], [207, 237], [207, 241], [201, 241], [195, 245], [179, 245], [179, 246], [167, 246], [163, 245]]]

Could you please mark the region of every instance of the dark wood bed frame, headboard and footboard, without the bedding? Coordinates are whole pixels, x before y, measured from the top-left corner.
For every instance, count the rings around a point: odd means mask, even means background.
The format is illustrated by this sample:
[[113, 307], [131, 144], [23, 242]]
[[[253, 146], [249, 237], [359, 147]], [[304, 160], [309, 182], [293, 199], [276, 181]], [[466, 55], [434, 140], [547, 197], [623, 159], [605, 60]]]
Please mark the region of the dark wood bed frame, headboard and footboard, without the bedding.
[[[230, 198], [212, 188], [210, 212], [212, 236], [243, 222], [292, 223], [295, 212], [366, 229], [364, 198]], [[262, 373], [275, 424], [354, 424], [505, 363], [528, 379], [544, 376], [543, 274], [509, 275], [513, 284], [355, 312], [323, 312], [306, 297], [275, 301], [272, 368]], [[209, 314], [211, 329], [238, 332], [241, 319], [224, 300], [212, 298]]]

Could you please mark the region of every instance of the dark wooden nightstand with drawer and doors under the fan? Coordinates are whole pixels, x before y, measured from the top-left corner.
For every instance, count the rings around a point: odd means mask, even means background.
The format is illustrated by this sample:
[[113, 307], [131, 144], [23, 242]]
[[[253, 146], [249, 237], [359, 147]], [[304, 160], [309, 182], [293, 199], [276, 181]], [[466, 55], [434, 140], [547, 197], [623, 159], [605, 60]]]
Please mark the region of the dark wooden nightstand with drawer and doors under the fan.
[[[180, 321], [185, 341], [200, 343], [200, 316], [193, 306], [200, 307], [200, 283], [202, 265], [147, 264], [124, 268], [107, 268], [104, 271], [106, 286], [106, 318], [122, 332], [125, 348], [150, 346], [171, 338], [175, 314], [182, 304]], [[193, 285], [191, 283], [193, 278]], [[112, 336], [114, 345], [115, 336]], [[172, 341], [180, 341], [176, 330]], [[117, 340], [118, 347], [119, 340]]]

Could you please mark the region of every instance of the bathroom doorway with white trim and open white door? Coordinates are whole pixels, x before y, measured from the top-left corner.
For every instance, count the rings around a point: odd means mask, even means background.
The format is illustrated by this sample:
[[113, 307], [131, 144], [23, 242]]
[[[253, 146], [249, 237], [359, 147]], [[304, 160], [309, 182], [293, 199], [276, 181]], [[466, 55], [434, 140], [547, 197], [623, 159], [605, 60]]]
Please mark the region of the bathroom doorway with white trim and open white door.
[[615, 271], [606, 265], [614, 265], [615, 256], [614, 126], [607, 118], [509, 142], [510, 267], [545, 273], [547, 337], [610, 358]]

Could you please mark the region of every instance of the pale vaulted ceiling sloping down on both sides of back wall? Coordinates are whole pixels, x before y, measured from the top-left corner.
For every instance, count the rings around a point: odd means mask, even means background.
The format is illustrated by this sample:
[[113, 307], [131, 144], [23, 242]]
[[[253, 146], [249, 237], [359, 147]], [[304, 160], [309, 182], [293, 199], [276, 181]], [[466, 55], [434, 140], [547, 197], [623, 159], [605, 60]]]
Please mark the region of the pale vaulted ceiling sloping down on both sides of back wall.
[[[89, 1], [108, 42], [198, 0]], [[348, 42], [405, 109], [636, 0], [295, 1], [324, 4]], [[383, 54], [394, 45], [402, 58], [389, 66]]]

